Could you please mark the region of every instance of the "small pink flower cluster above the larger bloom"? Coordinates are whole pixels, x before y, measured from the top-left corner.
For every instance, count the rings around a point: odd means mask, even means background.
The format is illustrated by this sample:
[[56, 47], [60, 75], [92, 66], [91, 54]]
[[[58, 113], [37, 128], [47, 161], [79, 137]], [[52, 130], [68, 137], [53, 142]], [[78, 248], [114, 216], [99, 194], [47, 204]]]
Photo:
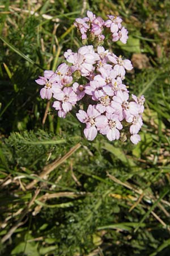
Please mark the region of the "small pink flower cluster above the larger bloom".
[[110, 28], [112, 41], [116, 42], [120, 40], [125, 44], [128, 39], [128, 31], [125, 27], [122, 27], [122, 19], [113, 15], [108, 15], [108, 18], [108, 20], [104, 21], [100, 16], [96, 18], [95, 14], [87, 11], [87, 17], [83, 19], [77, 18], [74, 25], [82, 35], [82, 40], [87, 39], [88, 35], [91, 38], [96, 37], [100, 42], [105, 38], [103, 35], [104, 28]]

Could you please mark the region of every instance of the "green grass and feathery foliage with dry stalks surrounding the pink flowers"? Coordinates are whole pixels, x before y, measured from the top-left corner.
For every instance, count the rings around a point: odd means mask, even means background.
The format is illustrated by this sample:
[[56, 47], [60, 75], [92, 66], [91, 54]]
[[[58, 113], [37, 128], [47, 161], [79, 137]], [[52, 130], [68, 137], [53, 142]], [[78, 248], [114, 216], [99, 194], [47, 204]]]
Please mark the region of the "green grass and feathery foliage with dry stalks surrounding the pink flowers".
[[[120, 15], [133, 61], [126, 84], [145, 94], [142, 141], [81, 137], [35, 83], [66, 49], [87, 10]], [[0, 254], [169, 256], [170, 3], [168, 0], [0, 1]], [[48, 112], [46, 114], [46, 112]]]

